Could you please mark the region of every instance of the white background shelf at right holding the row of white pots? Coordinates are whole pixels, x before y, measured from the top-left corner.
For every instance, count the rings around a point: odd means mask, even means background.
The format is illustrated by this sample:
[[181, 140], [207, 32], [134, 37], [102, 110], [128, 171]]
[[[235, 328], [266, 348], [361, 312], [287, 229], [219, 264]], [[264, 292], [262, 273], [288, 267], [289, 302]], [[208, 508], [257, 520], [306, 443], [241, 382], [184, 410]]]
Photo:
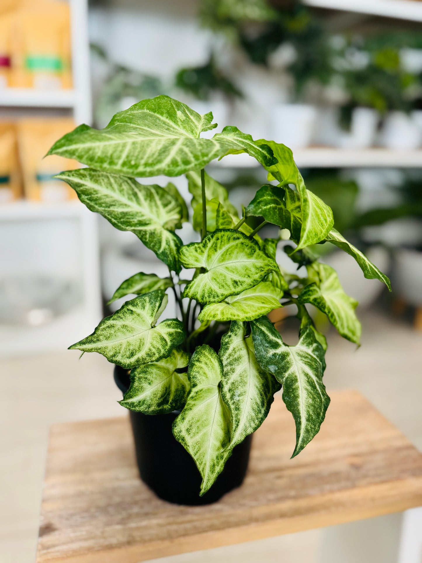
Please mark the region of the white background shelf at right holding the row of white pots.
[[[422, 168], [422, 149], [336, 149], [333, 147], [309, 147], [293, 151], [295, 163], [301, 168]], [[223, 168], [254, 168], [259, 166], [249, 154], [229, 154], [214, 160], [212, 166]]]

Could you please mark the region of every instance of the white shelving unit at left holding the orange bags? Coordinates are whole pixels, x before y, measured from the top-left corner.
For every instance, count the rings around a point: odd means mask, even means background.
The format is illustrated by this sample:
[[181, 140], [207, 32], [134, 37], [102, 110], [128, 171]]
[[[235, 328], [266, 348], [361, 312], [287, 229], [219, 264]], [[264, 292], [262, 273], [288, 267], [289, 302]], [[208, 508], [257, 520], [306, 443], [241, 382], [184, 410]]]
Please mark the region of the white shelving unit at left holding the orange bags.
[[[34, 3], [37, 0], [33, 0]], [[62, 0], [65, 1], [65, 0]], [[51, 110], [67, 109], [75, 123], [92, 123], [91, 77], [89, 73], [88, 0], [70, 3], [71, 57], [73, 88], [71, 90], [34, 90], [5, 88], [0, 90], [0, 108], [7, 118], [27, 108], [32, 113], [48, 115]], [[80, 299], [68, 312], [39, 326], [0, 323], [0, 356], [65, 350], [71, 343], [91, 333], [102, 318], [101, 283], [97, 216], [79, 202], [42, 203], [19, 201], [0, 206], [0, 231], [3, 244], [2, 276], [17, 273], [28, 276], [39, 270], [37, 262], [46, 263], [49, 275], [60, 276], [60, 265], [66, 266], [66, 253], [78, 271]], [[25, 236], [30, 254], [25, 262]], [[39, 245], [33, 244], [33, 239]], [[50, 252], [50, 254], [48, 254]], [[1, 261], [1, 260], [0, 260]], [[16, 266], [16, 272], [14, 270]], [[25, 269], [26, 268], [26, 269]], [[23, 270], [24, 269], [24, 270]], [[6, 271], [7, 270], [7, 271]], [[53, 271], [54, 270], [54, 271]], [[56, 271], [57, 270], [57, 271]], [[68, 270], [71, 270], [68, 267]], [[73, 275], [68, 272], [71, 279]]]

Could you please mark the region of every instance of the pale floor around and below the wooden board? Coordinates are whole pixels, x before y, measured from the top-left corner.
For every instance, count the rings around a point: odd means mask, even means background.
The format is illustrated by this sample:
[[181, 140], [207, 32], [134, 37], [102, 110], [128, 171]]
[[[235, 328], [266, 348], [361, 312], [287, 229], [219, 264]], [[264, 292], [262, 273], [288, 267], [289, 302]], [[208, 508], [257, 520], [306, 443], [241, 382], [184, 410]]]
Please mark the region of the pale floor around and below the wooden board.
[[[287, 338], [289, 343], [294, 337]], [[331, 333], [325, 383], [354, 387], [422, 449], [422, 334], [363, 317], [362, 347]], [[112, 366], [77, 351], [0, 360], [0, 561], [33, 563], [48, 426], [121, 415]], [[400, 515], [156, 560], [164, 563], [395, 563]]]

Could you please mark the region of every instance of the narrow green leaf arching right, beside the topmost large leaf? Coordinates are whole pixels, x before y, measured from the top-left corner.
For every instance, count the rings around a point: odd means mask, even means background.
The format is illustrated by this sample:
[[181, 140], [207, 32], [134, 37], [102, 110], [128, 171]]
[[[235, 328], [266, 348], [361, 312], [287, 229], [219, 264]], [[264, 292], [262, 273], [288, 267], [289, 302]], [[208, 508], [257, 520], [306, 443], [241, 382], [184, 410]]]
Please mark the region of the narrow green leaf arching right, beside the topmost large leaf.
[[226, 153], [220, 158], [227, 154], [248, 153], [265, 167], [272, 166], [272, 164], [277, 162], [272, 148], [268, 144], [261, 141], [255, 142], [250, 135], [242, 133], [237, 127], [228, 125], [221, 133], [214, 135], [214, 140], [221, 143], [221, 145], [226, 144], [227, 146]]

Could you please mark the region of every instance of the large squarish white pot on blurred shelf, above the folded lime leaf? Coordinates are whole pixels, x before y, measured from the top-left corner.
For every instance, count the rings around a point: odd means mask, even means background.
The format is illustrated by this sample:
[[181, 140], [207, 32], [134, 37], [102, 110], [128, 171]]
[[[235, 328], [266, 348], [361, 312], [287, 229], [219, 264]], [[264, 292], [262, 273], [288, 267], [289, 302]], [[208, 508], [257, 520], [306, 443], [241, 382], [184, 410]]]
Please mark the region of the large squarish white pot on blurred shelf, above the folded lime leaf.
[[303, 104], [282, 104], [273, 109], [272, 138], [290, 149], [304, 149], [315, 130], [317, 109]]

